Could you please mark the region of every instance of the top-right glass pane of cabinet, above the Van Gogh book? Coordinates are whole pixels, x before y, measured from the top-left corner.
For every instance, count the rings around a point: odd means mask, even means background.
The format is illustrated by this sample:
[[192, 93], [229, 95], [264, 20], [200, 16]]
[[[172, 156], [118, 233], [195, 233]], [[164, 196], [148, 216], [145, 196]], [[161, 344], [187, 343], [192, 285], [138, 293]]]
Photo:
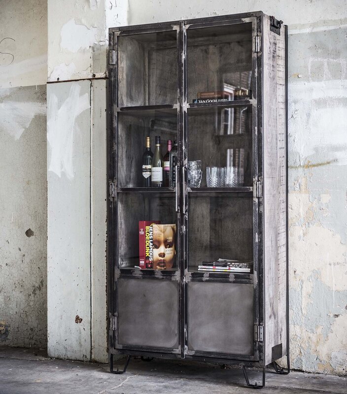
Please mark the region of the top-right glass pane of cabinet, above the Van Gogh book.
[[222, 92], [215, 98], [234, 99], [235, 91], [250, 90], [252, 24], [188, 29], [187, 77], [188, 102], [199, 93]]

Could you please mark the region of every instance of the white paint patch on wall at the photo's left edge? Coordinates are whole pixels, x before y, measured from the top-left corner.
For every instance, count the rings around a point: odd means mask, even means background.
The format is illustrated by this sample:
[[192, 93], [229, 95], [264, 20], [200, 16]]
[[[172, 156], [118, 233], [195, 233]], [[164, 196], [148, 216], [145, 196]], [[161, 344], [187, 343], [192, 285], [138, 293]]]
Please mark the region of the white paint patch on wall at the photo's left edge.
[[0, 131], [19, 139], [36, 114], [46, 115], [46, 105], [34, 101], [4, 101], [0, 103]]

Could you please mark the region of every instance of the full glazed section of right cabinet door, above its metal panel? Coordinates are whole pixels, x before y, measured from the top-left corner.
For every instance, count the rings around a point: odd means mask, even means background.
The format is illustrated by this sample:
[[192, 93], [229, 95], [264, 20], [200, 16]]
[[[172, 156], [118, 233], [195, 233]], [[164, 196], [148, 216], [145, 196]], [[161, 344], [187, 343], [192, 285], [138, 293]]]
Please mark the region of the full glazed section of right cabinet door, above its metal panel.
[[220, 265], [222, 272], [230, 264], [218, 261], [226, 260], [246, 272], [253, 259], [252, 22], [189, 26], [186, 48], [188, 269]]

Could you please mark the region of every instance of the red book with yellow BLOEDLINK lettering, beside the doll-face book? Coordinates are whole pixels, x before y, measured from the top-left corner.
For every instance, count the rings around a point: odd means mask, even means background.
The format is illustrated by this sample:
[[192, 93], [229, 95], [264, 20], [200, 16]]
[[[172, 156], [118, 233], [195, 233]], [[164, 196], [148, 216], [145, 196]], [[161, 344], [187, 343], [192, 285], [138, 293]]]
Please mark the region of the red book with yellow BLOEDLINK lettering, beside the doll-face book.
[[160, 221], [139, 222], [139, 267], [141, 269], [153, 268], [153, 224], [160, 224]]

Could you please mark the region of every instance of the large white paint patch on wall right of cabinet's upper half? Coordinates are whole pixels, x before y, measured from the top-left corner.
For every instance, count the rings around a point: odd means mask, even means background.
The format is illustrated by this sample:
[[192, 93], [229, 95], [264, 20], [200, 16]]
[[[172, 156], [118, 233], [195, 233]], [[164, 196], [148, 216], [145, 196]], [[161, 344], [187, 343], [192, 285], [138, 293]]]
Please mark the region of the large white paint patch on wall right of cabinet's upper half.
[[290, 83], [288, 91], [289, 150], [299, 153], [292, 164], [347, 164], [347, 79]]

